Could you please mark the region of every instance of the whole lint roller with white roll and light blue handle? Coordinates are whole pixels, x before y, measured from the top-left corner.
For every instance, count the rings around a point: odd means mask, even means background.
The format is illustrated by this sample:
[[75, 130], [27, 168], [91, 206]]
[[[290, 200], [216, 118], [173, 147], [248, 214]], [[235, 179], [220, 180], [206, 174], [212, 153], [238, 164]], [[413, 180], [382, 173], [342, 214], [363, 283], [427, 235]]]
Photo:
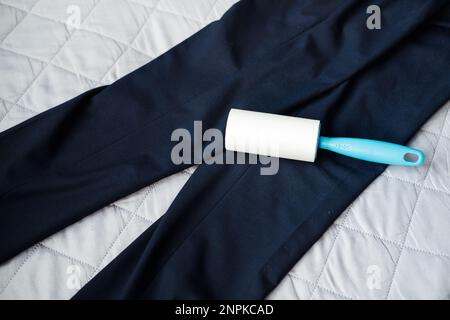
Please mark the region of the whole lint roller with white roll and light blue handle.
[[314, 162], [317, 148], [360, 160], [401, 166], [420, 166], [422, 151], [399, 144], [320, 136], [320, 121], [231, 109], [225, 129], [225, 149]]

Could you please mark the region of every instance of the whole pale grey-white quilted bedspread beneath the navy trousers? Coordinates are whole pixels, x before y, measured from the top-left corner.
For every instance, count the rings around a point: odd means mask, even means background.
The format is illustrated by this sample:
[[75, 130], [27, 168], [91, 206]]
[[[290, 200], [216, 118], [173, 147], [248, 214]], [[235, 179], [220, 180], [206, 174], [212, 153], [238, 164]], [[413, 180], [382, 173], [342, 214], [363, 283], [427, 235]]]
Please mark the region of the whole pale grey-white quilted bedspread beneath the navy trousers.
[[[0, 131], [117, 80], [235, 2], [0, 0]], [[411, 142], [426, 152], [426, 165], [389, 167], [269, 298], [450, 298], [449, 107]], [[110, 204], [1, 265], [0, 299], [70, 298], [165, 213], [194, 170]]]

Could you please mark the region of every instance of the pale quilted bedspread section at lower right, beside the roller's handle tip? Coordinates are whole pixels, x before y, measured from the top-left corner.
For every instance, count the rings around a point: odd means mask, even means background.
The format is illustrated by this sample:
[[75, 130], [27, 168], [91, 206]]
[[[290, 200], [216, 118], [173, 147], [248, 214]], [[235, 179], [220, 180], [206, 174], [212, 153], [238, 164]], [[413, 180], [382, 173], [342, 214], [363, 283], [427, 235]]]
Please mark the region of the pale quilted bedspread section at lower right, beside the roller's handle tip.
[[388, 167], [269, 299], [450, 298], [449, 109], [450, 102], [411, 142], [427, 163]]

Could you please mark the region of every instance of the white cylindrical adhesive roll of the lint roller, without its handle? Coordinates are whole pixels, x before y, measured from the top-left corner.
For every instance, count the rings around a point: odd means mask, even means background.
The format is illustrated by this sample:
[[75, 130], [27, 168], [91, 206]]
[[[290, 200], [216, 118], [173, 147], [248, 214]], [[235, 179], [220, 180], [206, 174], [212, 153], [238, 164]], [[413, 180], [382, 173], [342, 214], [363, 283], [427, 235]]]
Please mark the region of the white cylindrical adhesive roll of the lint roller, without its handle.
[[314, 162], [320, 121], [231, 109], [225, 129], [225, 149]]

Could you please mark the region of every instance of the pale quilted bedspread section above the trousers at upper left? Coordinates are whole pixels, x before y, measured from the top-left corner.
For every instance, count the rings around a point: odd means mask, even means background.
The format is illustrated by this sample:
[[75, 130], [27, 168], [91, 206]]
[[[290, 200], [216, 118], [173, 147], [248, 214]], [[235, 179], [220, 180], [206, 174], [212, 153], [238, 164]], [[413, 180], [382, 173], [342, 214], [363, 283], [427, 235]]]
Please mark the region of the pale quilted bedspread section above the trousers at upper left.
[[[189, 5], [185, 2], [0, 1], [2, 16], [10, 17], [0, 20], [0, 56], [6, 61], [2, 62], [0, 80], [0, 101], [4, 105], [0, 130], [133, 71], [220, 18], [236, 0], [202, 0]], [[177, 3], [184, 5], [179, 8]], [[73, 30], [66, 23], [70, 5], [76, 5], [81, 13], [81, 25]], [[127, 23], [122, 21], [125, 17]], [[161, 32], [167, 39], [161, 38]], [[160, 41], [155, 41], [156, 37]], [[10, 60], [14, 61], [11, 63], [20, 61], [23, 69], [10, 66]], [[48, 83], [50, 77], [58, 79], [52, 77], [56, 69], [65, 73], [68, 81], [59, 83], [78, 86], [66, 86], [47, 94], [47, 89], [57, 85], [57, 81]], [[10, 79], [18, 80], [11, 84]], [[35, 87], [45, 87], [45, 90], [33, 92]]]

